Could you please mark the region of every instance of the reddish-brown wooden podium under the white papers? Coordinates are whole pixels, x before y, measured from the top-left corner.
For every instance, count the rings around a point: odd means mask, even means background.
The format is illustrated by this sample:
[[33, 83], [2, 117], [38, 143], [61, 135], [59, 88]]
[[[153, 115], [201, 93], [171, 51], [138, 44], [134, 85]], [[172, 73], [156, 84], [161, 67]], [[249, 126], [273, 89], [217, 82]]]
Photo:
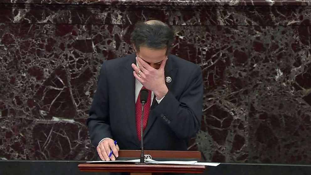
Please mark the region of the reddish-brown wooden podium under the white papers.
[[[155, 160], [201, 160], [199, 151], [144, 151]], [[120, 150], [118, 160], [139, 159], [140, 150]], [[151, 175], [160, 173], [203, 173], [203, 165], [175, 165], [175, 164], [139, 164], [139, 163], [82, 163], [78, 165], [84, 172], [130, 172], [131, 175]]]

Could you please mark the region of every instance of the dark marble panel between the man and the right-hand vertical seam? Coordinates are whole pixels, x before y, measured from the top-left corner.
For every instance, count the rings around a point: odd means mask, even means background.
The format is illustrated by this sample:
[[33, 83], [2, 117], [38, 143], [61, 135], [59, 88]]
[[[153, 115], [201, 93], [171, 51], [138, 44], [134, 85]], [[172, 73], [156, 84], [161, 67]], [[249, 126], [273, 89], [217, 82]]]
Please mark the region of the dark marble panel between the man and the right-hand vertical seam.
[[208, 161], [234, 162], [248, 152], [248, 28], [177, 26], [176, 33], [173, 53], [200, 65], [205, 84], [202, 128], [190, 149]]

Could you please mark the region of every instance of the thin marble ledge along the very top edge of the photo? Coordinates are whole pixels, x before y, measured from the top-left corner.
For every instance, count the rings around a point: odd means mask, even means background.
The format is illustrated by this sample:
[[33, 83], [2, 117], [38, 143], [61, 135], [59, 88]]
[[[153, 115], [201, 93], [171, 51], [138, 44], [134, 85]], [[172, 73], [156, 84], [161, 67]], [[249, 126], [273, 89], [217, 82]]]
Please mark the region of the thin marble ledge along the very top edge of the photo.
[[22, 4], [170, 5], [170, 6], [310, 6], [310, 0], [2, 0]]

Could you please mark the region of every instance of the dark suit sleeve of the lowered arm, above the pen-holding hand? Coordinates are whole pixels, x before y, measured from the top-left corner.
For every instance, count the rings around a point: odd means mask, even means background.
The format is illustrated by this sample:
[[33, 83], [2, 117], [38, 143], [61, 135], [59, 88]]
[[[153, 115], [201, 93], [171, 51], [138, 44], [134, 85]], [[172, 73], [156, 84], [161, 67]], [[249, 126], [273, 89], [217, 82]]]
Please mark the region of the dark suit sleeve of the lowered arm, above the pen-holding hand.
[[97, 82], [97, 89], [94, 95], [87, 127], [92, 144], [96, 147], [105, 137], [112, 138], [109, 123], [108, 83], [105, 63], [103, 63]]

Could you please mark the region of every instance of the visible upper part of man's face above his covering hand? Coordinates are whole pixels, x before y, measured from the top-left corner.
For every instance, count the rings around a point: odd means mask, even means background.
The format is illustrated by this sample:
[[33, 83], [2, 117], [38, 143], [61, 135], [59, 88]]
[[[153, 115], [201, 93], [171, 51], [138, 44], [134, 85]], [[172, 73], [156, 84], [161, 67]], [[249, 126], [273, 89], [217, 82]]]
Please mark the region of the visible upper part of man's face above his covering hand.
[[148, 47], [141, 46], [137, 56], [148, 63], [151, 67], [159, 69], [161, 62], [166, 58], [166, 48], [153, 50]]

